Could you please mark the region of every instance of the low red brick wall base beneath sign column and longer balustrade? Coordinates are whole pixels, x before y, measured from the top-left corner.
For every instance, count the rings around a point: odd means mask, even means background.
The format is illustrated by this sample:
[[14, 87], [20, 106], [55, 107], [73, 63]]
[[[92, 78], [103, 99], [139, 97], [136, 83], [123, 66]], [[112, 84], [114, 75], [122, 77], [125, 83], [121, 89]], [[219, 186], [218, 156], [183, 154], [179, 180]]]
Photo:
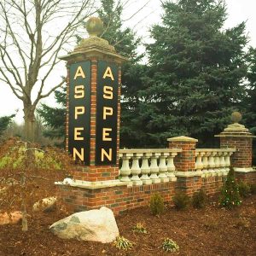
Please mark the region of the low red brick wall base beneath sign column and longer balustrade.
[[150, 197], [159, 192], [165, 201], [172, 201], [175, 182], [150, 185], [109, 187], [102, 189], [82, 189], [59, 185], [59, 196], [75, 212], [88, 211], [102, 206], [109, 207], [118, 215], [127, 209], [148, 206]]

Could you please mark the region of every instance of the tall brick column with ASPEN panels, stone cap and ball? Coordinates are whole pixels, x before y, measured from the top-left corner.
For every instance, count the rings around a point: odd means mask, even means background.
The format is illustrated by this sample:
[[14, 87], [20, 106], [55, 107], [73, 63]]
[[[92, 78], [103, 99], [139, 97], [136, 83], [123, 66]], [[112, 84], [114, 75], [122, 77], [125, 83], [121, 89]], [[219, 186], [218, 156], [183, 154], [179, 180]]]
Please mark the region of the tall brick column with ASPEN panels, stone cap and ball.
[[102, 20], [90, 18], [90, 38], [61, 57], [68, 75], [66, 148], [80, 166], [69, 187], [57, 184], [75, 210], [117, 204], [121, 211], [124, 204], [115, 200], [127, 186], [118, 179], [121, 64], [127, 59], [98, 37], [102, 28]]

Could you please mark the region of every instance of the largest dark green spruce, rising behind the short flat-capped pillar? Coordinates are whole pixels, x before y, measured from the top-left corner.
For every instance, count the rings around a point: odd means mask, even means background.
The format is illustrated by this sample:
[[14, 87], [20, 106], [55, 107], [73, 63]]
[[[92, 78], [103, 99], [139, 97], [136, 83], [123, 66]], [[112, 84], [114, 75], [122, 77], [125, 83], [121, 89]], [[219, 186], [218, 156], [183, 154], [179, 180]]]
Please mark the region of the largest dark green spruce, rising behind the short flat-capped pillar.
[[149, 69], [138, 119], [146, 143], [162, 147], [167, 137], [187, 135], [208, 146], [239, 109], [247, 74], [245, 23], [224, 29], [222, 0], [162, 3], [162, 24], [153, 26]]

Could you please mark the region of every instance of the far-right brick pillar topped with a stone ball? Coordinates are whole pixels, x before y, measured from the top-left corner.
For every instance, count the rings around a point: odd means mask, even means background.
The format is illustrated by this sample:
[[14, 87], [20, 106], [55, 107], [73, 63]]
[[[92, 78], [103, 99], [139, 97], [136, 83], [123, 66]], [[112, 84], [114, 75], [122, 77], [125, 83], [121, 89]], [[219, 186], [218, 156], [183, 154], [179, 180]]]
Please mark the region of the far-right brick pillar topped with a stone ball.
[[241, 113], [234, 112], [231, 116], [232, 125], [228, 125], [219, 135], [220, 148], [236, 148], [231, 156], [231, 166], [234, 167], [237, 177], [247, 182], [256, 182], [256, 172], [252, 167], [253, 135], [244, 125], [240, 125]]

